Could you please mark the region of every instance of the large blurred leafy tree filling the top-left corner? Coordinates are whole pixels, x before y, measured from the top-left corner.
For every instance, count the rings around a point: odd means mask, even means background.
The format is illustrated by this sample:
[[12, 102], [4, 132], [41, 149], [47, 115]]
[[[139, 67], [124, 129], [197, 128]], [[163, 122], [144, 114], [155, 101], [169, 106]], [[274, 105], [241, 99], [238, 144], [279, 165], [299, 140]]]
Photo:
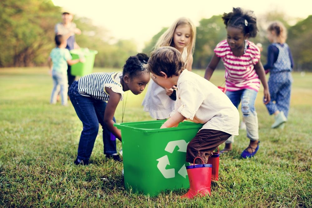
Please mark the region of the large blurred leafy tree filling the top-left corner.
[[[43, 54], [54, 45], [54, 24], [61, 13], [51, 1], [0, 2], [0, 66], [30, 66], [46, 62]], [[54, 37], [54, 36], [53, 36]]]

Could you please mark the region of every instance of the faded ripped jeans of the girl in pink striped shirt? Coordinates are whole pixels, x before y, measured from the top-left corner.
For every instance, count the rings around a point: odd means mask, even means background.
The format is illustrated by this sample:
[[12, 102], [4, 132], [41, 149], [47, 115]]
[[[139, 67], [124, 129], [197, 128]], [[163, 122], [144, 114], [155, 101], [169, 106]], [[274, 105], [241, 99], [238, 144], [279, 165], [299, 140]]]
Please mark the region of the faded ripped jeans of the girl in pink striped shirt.
[[[253, 89], [241, 89], [237, 91], [227, 91], [226, 95], [236, 108], [238, 108], [238, 105], [241, 103], [241, 112], [246, 123], [247, 137], [252, 141], [258, 140], [258, 117], [255, 108], [257, 92]], [[225, 143], [233, 142], [234, 136], [232, 135]]]

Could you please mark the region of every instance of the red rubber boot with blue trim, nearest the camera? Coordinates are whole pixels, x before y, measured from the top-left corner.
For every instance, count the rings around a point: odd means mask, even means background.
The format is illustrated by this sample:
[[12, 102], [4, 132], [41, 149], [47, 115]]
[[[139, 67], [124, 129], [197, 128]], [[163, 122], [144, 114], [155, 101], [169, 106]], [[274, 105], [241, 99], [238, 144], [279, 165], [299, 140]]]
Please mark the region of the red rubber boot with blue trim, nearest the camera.
[[[209, 194], [211, 196], [210, 186], [211, 186], [211, 164], [200, 164], [186, 166], [188, 172], [188, 180], [190, 182], [190, 189], [186, 194], [181, 196], [181, 198], [193, 199], [195, 196], [206, 196]], [[200, 158], [202, 160], [202, 158]], [[204, 161], [202, 160], [204, 163]]]

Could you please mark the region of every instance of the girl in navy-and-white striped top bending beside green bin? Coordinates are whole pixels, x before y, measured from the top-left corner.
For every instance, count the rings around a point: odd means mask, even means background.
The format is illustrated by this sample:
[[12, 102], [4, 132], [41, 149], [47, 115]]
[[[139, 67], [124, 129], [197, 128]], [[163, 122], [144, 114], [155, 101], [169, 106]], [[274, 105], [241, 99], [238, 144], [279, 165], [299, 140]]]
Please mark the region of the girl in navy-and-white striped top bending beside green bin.
[[120, 130], [113, 126], [115, 110], [125, 91], [130, 90], [133, 94], [143, 92], [150, 79], [149, 71], [143, 68], [148, 59], [145, 54], [130, 56], [122, 73], [92, 73], [73, 82], [69, 97], [83, 124], [76, 165], [89, 164], [99, 123], [103, 128], [104, 154], [107, 158], [121, 161], [116, 151], [116, 140], [110, 139], [112, 133], [121, 141]]

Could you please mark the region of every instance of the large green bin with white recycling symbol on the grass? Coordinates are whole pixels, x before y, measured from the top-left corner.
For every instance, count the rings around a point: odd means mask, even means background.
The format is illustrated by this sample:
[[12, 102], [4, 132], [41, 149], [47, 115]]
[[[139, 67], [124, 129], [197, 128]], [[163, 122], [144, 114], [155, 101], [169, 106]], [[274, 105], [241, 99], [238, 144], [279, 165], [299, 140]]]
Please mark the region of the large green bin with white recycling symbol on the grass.
[[114, 124], [121, 130], [127, 190], [155, 196], [163, 190], [189, 187], [186, 148], [203, 124], [185, 121], [160, 129], [165, 121]]

